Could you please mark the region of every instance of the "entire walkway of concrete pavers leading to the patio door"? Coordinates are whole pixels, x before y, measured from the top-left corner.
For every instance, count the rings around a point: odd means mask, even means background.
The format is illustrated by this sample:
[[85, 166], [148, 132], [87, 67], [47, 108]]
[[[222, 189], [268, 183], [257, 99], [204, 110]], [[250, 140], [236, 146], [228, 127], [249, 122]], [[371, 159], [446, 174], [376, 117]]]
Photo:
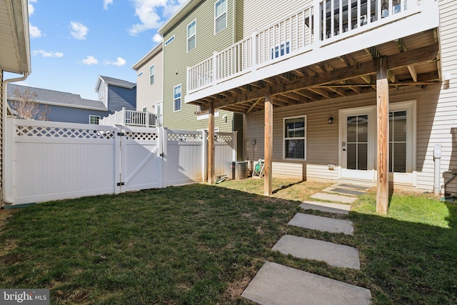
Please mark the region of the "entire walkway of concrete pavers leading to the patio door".
[[[311, 196], [313, 199], [331, 202], [304, 201], [300, 206], [303, 210], [314, 209], [334, 214], [348, 214], [351, 210], [350, 204], [357, 199], [355, 196], [325, 193], [325, 191], [333, 193], [335, 188], [341, 187], [343, 192], [351, 195], [364, 194], [368, 189], [367, 186], [351, 184], [335, 185]], [[303, 213], [293, 216], [288, 225], [331, 233], [353, 234], [352, 221]], [[324, 261], [340, 268], [360, 269], [358, 250], [351, 246], [285, 235], [279, 239], [272, 250], [291, 254], [300, 259]], [[270, 261], [263, 264], [241, 296], [263, 305], [366, 305], [371, 303], [371, 291], [368, 289]]]

